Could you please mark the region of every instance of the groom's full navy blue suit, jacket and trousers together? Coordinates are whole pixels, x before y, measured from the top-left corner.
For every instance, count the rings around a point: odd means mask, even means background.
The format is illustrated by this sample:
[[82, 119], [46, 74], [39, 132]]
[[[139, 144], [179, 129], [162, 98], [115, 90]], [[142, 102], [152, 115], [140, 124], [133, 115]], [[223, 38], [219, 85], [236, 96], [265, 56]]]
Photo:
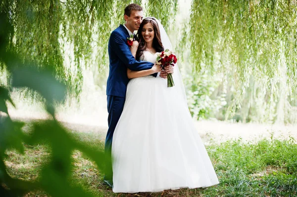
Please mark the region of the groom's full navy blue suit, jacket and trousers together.
[[[106, 171], [104, 177], [106, 180], [112, 180], [110, 159], [112, 136], [124, 108], [126, 89], [129, 82], [127, 68], [133, 71], [142, 71], [153, 66], [150, 62], [135, 60], [127, 44], [128, 37], [130, 35], [127, 29], [120, 25], [111, 33], [108, 42], [109, 76], [106, 86], [108, 130], [105, 140]], [[153, 76], [156, 77], [157, 73]]]

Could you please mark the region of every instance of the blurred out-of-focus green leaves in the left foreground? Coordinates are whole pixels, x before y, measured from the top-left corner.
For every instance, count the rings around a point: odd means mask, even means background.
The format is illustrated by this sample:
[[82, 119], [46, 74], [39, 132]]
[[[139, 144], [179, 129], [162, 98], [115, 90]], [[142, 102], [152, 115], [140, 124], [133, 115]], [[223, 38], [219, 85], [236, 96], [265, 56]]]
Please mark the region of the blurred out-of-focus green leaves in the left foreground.
[[[54, 78], [51, 70], [41, 71], [33, 66], [34, 62], [24, 63], [19, 55], [8, 47], [9, 35], [12, 33], [9, 13], [0, 12], [0, 62], [6, 65], [11, 81], [8, 87], [0, 84], [0, 195], [19, 197], [34, 190], [43, 190], [53, 197], [92, 197], [79, 185], [69, 183], [72, 180], [71, 153], [73, 150], [80, 150], [92, 158], [101, 169], [104, 154], [101, 150], [77, 141], [56, 121], [53, 104], [63, 100], [66, 86]], [[8, 113], [7, 104], [14, 106], [9, 96], [11, 87], [30, 88], [38, 92], [45, 100], [50, 119], [33, 122], [28, 132], [23, 132], [22, 127], [28, 124], [12, 120]], [[38, 179], [24, 180], [7, 173], [8, 164], [4, 162], [5, 158], [9, 158], [7, 151], [14, 149], [24, 154], [24, 143], [33, 147], [39, 143], [47, 144], [50, 150], [49, 158], [41, 160]]]

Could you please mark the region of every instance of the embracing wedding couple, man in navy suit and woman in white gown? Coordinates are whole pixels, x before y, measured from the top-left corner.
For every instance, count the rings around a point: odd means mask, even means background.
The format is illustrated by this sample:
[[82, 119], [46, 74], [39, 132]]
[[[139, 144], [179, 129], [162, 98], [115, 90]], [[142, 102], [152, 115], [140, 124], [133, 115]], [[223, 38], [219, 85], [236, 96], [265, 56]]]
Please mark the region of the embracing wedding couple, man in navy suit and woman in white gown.
[[[218, 184], [194, 126], [177, 64], [165, 70], [157, 52], [172, 50], [161, 23], [143, 8], [125, 8], [126, 23], [108, 43], [108, 131], [104, 183], [115, 193], [160, 192]], [[130, 43], [138, 31], [139, 41]], [[175, 86], [167, 87], [167, 74]]]

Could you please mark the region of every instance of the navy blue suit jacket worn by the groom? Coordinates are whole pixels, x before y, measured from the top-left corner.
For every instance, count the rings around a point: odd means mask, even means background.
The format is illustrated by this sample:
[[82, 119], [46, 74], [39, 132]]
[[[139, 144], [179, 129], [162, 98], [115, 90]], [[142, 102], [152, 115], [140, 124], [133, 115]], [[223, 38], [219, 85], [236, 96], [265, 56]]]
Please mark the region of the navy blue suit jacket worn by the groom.
[[[110, 35], [108, 41], [109, 75], [106, 85], [106, 95], [126, 97], [126, 89], [129, 79], [127, 68], [133, 71], [151, 69], [153, 63], [137, 61], [127, 44], [130, 37], [123, 25], [116, 28]], [[153, 74], [154, 77], [157, 73]]]

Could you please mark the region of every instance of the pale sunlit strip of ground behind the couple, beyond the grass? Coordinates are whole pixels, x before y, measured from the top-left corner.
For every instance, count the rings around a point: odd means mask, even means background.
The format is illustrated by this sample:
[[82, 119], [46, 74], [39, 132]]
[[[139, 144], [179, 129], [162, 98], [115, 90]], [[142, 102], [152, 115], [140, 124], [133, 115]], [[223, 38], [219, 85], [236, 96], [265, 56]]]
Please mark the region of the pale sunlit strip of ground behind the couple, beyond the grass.
[[[21, 110], [9, 110], [14, 119], [30, 121], [47, 118], [46, 113], [32, 113]], [[76, 115], [74, 113], [59, 113], [57, 119], [70, 130], [79, 132], [99, 132], [102, 139], [107, 131], [107, 113], [104, 109], [92, 115]], [[297, 125], [231, 123], [224, 121], [194, 120], [199, 135], [205, 144], [209, 142], [224, 142], [241, 139], [244, 142], [257, 141], [263, 138], [289, 138], [297, 140]]]

